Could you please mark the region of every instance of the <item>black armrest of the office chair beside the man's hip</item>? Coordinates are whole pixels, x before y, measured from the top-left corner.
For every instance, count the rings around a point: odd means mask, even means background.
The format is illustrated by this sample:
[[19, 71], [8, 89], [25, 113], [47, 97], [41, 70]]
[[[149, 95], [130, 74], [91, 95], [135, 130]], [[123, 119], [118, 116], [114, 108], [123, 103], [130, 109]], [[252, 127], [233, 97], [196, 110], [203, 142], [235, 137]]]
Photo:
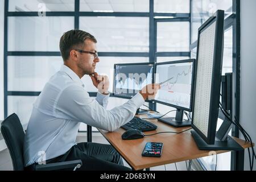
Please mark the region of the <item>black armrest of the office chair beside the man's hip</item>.
[[75, 168], [78, 164], [82, 166], [81, 160], [70, 160], [59, 163], [49, 163], [49, 164], [38, 164], [36, 165], [36, 171], [52, 171], [59, 169]]

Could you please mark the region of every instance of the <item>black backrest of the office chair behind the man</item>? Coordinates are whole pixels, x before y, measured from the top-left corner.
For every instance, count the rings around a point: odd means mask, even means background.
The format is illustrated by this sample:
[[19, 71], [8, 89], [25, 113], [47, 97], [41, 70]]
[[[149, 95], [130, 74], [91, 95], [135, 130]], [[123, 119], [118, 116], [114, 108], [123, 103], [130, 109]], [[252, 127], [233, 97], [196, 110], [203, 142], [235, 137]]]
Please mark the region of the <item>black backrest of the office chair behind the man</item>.
[[23, 143], [25, 134], [18, 115], [11, 114], [2, 122], [1, 133], [10, 151], [13, 169], [15, 171], [24, 170]]

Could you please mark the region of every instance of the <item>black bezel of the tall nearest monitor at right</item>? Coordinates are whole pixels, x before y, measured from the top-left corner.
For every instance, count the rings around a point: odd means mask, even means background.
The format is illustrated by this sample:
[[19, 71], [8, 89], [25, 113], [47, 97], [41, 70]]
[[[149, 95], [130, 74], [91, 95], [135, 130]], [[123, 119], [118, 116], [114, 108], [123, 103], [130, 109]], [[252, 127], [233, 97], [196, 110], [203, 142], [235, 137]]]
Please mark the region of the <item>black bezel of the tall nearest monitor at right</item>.
[[[210, 106], [209, 106], [209, 121], [208, 121], [208, 137], [205, 136], [193, 123], [194, 114], [192, 114], [192, 128], [200, 137], [208, 144], [214, 144], [216, 136], [216, 127], [218, 119], [218, 108], [220, 102], [220, 88], [221, 88], [221, 75], [222, 75], [222, 57], [223, 57], [223, 43], [224, 43], [224, 11], [218, 10], [213, 14], [198, 30], [197, 37], [197, 55], [199, 57], [199, 43], [200, 34], [205, 28], [209, 27], [213, 22], [216, 22], [216, 34], [214, 40], [214, 55], [213, 55], [213, 72], [212, 72], [212, 88], [210, 93]], [[217, 48], [216, 48], [217, 47]], [[192, 112], [195, 109], [195, 94], [196, 94], [196, 77], [197, 77], [197, 61], [195, 63], [195, 82], [193, 85], [193, 106]]]

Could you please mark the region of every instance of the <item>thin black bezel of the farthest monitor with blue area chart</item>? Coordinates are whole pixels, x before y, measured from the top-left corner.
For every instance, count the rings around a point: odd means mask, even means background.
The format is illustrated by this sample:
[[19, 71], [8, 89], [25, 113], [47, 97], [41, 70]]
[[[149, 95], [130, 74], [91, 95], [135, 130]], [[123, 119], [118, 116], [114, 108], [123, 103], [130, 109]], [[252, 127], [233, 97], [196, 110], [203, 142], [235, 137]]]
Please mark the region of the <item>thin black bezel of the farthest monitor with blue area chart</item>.
[[[117, 98], [125, 98], [125, 99], [131, 99], [133, 97], [126, 97], [126, 96], [119, 96], [118, 94], [115, 94], [115, 67], [118, 66], [122, 66], [122, 65], [153, 65], [153, 73], [152, 73], [152, 83], [154, 82], [154, 70], [155, 70], [155, 63], [150, 63], [150, 62], [144, 62], [144, 63], [119, 63], [119, 64], [114, 64], [114, 76], [113, 76], [113, 93], [112, 93], [112, 97], [117, 97]], [[153, 102], [152, 100], [146, 100], [146, 102]]]

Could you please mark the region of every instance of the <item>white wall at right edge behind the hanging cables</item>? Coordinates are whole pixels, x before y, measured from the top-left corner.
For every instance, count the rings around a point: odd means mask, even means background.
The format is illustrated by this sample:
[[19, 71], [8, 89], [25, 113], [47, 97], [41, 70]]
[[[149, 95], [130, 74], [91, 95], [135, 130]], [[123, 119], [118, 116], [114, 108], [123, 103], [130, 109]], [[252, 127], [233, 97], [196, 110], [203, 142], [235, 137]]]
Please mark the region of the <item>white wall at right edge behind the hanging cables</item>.
[[[241, 97], [240, 121], [256, 143], [256, 1], [241, 0]], [[242, 136], [240, 134], [240, 136]], [[242, 137], [241, 137], [242, 138]], [[254, 147], [256, 150], [256, 148]], [[255, 160], [254, 160], [255, 161]], [[245, 169], [249, 170], [248, 152], [245, 152]], [[254, 162], [254, 170], [256, 164]]]

